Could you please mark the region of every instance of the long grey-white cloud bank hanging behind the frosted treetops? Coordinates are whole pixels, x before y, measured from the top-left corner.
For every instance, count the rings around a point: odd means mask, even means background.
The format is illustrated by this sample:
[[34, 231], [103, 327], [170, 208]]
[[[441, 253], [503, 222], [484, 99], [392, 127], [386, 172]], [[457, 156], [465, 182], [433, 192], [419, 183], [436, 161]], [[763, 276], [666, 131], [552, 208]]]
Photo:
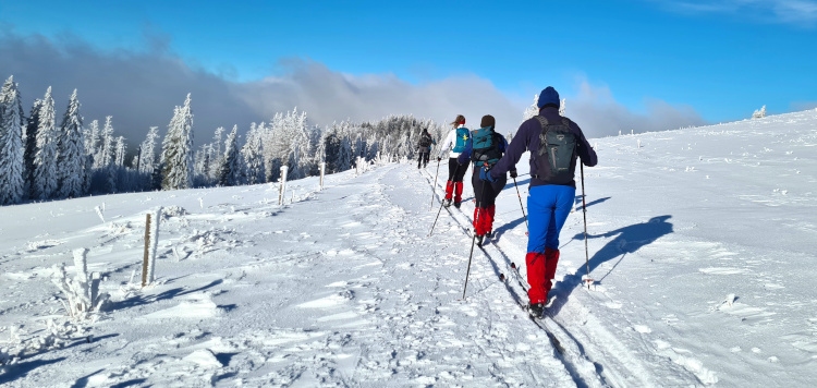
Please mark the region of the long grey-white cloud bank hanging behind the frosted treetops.
[[[145, 50], [100, 50], [72, 36], [0, 33], [0, 76], [14, 75], [26, 114], [49, 86], [59, 110], [77, 88], [85, 122], [112, 116], [117, 132], [132, 145], [142, 142], [150, 126], [164, 133], [173, 107], [187, 93], [195, 101], [197, 144], [209, 141], [216, 128], [237, 124], [244, 132], [251, 122], [268, 122], [277, 112], [294, 107], [308, 112], [310, 122], [321, 126], [390, 114], [414, 114], [437, 122], [464, 114], [475, 126], [483, 114], [492, 114], [498, 130], [508, 133], [516, 130], [531, 104], [473, 74], [413, 84], [388, 73], [345, 74], [298, 58], [282, 60], [280, 74], [236, 82], [185, 62], [168, 49], [167, 39], [147, 37], [147, 43]], [[634, 113], [617, 102], [609, 88], [587, 82], [581, 83], [575, 96], [562, 93], [562, 97], [568, 98], [566, 114], [590, 137], [705, 122], [691, 107], [661, 100], [647, 101], [644, 114]]]

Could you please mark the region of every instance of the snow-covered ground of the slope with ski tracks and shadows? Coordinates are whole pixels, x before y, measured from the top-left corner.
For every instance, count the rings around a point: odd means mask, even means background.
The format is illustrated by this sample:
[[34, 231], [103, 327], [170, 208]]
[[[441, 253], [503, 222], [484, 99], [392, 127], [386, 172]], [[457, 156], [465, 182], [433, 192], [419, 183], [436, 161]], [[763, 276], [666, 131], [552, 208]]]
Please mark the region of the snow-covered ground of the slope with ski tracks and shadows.
[[[0, 208], [0, 386], [817, 385], [817, 111], [592, 143], [596, 282], [577, 198], [544, 324], [560, 349], [519, 306], [513, 184], [461, 300], [473, 203], [428, 237], [436, 162], [388, 165], [290, 182], [285, 206], [265, 184]], [[51, 277], [80, 247], [110, 302], [69, 319]]]

